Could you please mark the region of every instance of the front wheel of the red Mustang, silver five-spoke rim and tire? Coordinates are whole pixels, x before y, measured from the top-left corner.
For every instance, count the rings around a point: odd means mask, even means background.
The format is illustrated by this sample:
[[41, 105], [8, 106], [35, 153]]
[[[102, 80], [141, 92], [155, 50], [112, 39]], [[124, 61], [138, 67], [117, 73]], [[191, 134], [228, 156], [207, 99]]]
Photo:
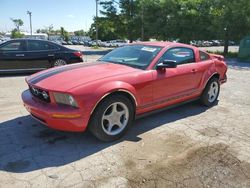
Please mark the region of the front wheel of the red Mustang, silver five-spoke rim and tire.
[[113, 95], [98, 105], [89, 129], [99, 140], [110, 142], [124, 135], [133, 119], [134, 107], [131, 101], [125, 96]]

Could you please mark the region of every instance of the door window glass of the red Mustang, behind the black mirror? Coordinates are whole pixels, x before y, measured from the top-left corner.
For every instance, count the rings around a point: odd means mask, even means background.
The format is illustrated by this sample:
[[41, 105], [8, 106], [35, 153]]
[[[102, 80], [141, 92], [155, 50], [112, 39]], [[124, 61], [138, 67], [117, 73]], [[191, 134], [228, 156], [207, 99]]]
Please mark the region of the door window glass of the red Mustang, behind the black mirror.
[[185, 47], [177, 47], [169, 49], [161, 57], [160, 62], [164, 60], [174, 60], [178, 65], [195, 62], [193, 50]]

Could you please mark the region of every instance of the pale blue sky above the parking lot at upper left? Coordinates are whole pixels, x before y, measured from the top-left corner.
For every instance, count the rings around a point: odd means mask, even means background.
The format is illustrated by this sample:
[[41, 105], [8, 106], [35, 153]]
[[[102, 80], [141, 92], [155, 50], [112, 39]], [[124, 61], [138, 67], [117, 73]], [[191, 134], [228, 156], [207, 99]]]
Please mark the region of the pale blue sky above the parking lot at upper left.
[[11, 18], [22, 19], [22, 31], [29, 32], [29, 15], [32, 12], [33, 32], [53, 25], [67, 31], [87, 31], [95, 16], [95, 0], [0, 0], [0, 31], [14, 29]]

